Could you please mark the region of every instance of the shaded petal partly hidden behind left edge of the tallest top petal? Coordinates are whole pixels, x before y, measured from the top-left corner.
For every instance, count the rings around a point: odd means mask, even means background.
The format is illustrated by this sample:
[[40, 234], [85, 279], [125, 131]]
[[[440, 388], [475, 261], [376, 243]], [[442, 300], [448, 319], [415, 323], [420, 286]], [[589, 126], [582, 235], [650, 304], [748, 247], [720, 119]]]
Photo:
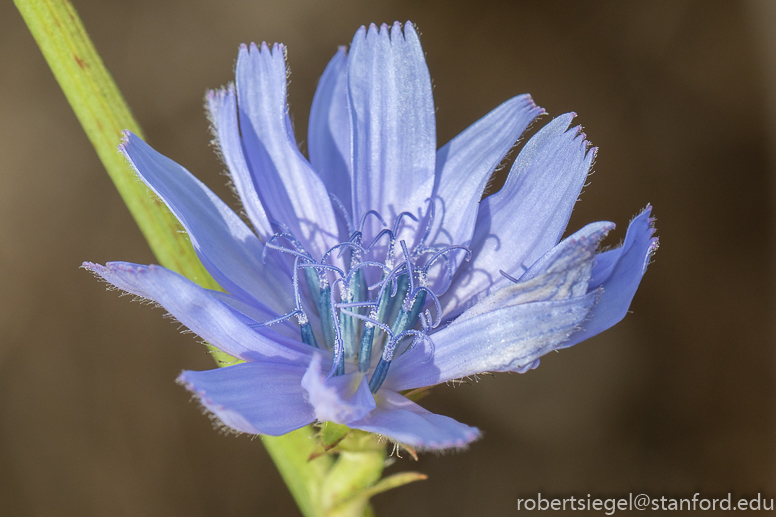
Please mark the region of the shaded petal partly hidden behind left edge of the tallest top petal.
[[352, 218], [353, 131], [350, 128], [347, 71], [347, 51], [341, 47], [329, 61], [315, 90], [307, 148], [315, 171]]

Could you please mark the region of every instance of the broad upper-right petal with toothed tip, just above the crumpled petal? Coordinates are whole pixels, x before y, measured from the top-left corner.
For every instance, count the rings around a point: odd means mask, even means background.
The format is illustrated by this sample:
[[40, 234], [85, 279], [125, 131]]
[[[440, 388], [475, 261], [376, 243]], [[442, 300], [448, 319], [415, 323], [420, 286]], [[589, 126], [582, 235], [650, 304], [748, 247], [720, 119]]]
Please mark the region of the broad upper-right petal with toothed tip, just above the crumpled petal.
[[558, 117], [529, 140], [504, 187], [480, 203], [472, 240], [474, 256], [462, 264], [446, 293], [453, 316], [467, 301], [520, 277], [560, 240], [595, 155], [584, 135], [568, 128], [573, 114]]

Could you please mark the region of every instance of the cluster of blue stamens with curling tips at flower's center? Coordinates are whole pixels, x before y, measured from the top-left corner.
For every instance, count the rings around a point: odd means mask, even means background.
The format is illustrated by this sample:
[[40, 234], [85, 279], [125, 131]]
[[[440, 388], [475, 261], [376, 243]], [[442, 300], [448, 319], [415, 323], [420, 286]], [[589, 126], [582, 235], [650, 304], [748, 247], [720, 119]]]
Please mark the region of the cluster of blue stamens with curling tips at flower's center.
[[[382, 227], [372, 232], [375, 235], [364, 245], [370, 216]], [[399, 214], [390, 228], [374, 210], [364, 214], [356, 230], [346, 215], [344, 219], [350, 237], [329, 249], [320, 260], [315, 260], [290, 231], [276, 223], [280, 231], [268, 240], [264, 253], [275, 250], [293, 257], [296, 306], [279, 318], [253, 326], [268, 326], [296, 317], [303, 342], [333, 351], [329, 375], [343, 375], [346, 364], [353, 365], [348, 368], [351, 371], [357, 367], [361, 373], [369, 372], [374, 365], [369, 388], [376, 393], [397, 356], [398, 346], [412, 338], [398, 354], [401, 355], [418, 340], [428, 339], [428, 332], [439, 325], [442, 311], [429, 284], [430, 268], [443, 260], [442, 270], [452, 274], [448, 254], [463, 250], [468, 260], [470, 252], [465, 246], [426, 246], [433, 225], [433, 210], [424, 217], [427, 223], [420, 238], [417, 238], [420, 221], [408, 212]], [[406, 224], [410, 220], [416, 223], [415, 228]], [[369, 227], [378, 225], [373, 223]], [[400, 249], [397, 249], [397, 240]], [[282, 241], [285, 246], [280, 244]], [[302, 292], [300, 271], [307, 284], [308, 297]], [[434, 305], [435, 319], [430, 309], [424, 311], [427, 304]], [[315, 337], [309, 309], [317, 312], [322, 345]], [[416, 329], [418, 322], [420, 328]]]

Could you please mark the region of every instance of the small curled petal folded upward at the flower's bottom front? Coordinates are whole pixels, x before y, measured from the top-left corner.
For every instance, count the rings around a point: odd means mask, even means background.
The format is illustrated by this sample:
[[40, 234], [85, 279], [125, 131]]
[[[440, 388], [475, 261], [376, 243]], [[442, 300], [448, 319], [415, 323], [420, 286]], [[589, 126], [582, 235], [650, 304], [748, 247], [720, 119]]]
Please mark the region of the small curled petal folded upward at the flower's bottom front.
[[321, 360], [320, 354], [314, 354], [302, 377], [302, 387], [315, 408], [316, 420], [347, 425], [375, 408], [375, 398], [364, 375], [354, 372], [326, 379], [321, 372]]

